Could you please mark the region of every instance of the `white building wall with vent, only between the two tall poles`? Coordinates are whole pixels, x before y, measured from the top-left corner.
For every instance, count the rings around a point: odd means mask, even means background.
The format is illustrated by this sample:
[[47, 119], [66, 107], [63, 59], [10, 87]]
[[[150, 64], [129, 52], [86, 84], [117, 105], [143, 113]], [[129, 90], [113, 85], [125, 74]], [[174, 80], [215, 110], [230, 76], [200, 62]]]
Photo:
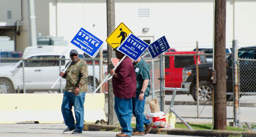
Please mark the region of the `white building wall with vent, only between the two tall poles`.
[[[202, 0], [194, 0], [200, 2], [150, 1], [117, 3], [116, 22], [125, 22], [136, 35], [153, 35], [155, 40], [165, 35], [168, 43], [178, 51], [194, 49], [196, 41], [212, 42], [212, 0], [204, 0], [204, 2]], [[150, 17], [138, 17], [139, 8], [150, 9]], [[146, 34], [142, 33], [144, 27], [149, 28]]]

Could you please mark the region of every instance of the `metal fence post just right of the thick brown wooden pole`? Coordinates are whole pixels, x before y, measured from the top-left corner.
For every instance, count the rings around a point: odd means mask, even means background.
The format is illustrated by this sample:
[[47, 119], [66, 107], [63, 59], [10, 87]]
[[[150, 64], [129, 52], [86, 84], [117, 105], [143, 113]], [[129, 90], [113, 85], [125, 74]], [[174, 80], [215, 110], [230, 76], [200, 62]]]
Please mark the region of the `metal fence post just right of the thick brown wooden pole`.
[[239, 81], [238, 81], [238, 40], [232, 41], [233, 46], [233, 101], [234, 101], [234, 123], [238, 126], [238, 116], [239, 116]]

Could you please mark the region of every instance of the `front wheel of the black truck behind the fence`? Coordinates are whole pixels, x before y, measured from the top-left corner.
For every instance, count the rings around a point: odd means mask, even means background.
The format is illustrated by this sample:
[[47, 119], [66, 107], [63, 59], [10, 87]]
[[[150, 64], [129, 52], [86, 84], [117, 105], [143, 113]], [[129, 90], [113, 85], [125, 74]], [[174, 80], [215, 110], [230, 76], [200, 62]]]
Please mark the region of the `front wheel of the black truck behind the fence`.
[[[193, 99], [197, 101], [197, 90], [196, 85], [193, 88]], [[199, 82], [199, 101], [206, 102], [210, 101], [212, 98], [212, 86], [207, 81], [200, 81]]]

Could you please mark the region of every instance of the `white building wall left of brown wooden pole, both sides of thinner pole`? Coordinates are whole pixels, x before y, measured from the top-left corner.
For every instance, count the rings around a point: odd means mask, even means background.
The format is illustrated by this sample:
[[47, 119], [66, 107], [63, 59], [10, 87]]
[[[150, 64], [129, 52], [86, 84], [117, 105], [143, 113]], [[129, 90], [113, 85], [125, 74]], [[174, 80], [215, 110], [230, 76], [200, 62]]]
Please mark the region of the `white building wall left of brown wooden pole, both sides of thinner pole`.
[[[84, 27], [105, 41], [105, 0], [75, 1], [77, 2], [58, 1], [58, 36], [64, 36], [70, 41], [80, 27]], [[123, 22], [137, 36], [152, 36], [155, 40], [165, 35], [169, 43], [212, 42], [212, 0], [195, 0], [199, 2], [193, 3], [179, 2], [180, 0], [155, 1], [157, 0], [116, 0], [116, 26]], [[138, 17], [138, 9], [141, 8], [149, 9], [150, 17]], [[69, 12], [63, 14], [66, 10]], [[147, 33], [142, 32], [145, 27], [149, 28]], [[176, 48], [183, 50], [181, 47]]]

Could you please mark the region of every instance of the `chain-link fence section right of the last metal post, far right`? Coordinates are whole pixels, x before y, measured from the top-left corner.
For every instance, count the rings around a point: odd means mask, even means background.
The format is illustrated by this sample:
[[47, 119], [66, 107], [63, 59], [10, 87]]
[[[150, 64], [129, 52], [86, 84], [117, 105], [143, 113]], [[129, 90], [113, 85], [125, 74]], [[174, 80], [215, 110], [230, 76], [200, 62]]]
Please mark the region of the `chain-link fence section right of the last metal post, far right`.
[[[239, 54], [239, 52], [238, 52]], [[248, 52], [249, 56], [256, 53]], [[244, 126], [256, 123], [256, 58], [239, 58], [239, 118]], [[250, 126], [248, 126], [250, 128]]]

